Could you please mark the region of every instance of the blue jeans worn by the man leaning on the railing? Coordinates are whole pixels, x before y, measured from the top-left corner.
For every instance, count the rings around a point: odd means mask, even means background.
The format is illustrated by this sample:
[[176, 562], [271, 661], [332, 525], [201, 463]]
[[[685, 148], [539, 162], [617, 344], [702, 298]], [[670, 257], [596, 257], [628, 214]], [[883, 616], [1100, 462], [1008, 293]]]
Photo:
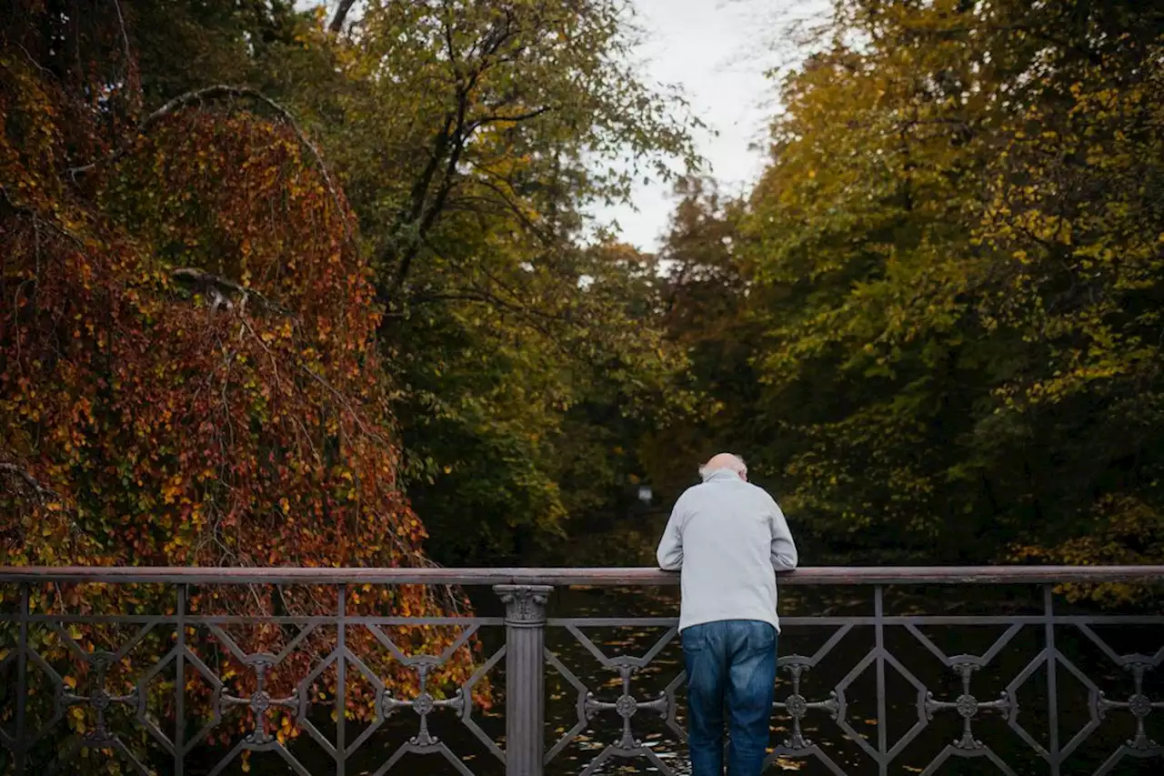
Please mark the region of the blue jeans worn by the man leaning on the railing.
[[776, 684], [776, 629], [759, 620], [684, 628], [688, 748], [694, 776], [723, 776], [724, 711], [729, 776], [759, 776]]

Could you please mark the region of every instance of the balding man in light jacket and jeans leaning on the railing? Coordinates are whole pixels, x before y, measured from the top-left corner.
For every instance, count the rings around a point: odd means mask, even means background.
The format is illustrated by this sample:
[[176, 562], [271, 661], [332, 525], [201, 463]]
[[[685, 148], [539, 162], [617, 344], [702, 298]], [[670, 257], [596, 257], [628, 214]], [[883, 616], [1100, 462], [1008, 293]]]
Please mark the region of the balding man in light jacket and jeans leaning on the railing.
[[776, 680], [776, 576], [796, 567], [780, 507], [747, 482], [738, 456], [719, 453], [701, 485], [675, 502], [659, 566], [681, 571], [679, 630], [687, 668], [694, 776], [723, 776], [724, 711], [730, 776], [759, 776]]

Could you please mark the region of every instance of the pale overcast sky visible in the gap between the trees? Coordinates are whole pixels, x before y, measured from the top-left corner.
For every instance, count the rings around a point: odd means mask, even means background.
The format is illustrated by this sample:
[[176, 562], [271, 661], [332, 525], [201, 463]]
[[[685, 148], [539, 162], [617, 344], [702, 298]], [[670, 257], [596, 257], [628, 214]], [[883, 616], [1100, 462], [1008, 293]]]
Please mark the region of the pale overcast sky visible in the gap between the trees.
[[[683, 89], [695, 115], [717, 133], [696, 135], [698, 153], [723, 190], [744, 190], [764, 168], [767, 125], [776, 110], [774, 83], [765, 73], [795, 54], [782, 30], [793, 19], [819, 13], [825, 0], [633, 2], [646, 37], [645, 79]], [[654, 251], [672, 205], [668, 185], [640, 183], [633, 207], [604, 207], [595, 214], [616, 220], [623, 241]]]

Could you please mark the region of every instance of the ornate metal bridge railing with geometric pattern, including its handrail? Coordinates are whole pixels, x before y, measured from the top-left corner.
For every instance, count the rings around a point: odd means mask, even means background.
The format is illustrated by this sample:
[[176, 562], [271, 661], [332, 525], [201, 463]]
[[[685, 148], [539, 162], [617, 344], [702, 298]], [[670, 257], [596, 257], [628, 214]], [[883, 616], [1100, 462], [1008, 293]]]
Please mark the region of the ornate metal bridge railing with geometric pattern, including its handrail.
[[[339, 776], [425, 774], [433, 755], [464, 776], [589, 776], [612, 761], [683, 774], [674, 618], [547, 616], [567, 604], [551, 602], [555, 591], [618, 588], [626, 601], [627, 588], [646, 595], [676, 581], [650, 569], [0, 569], [0, 601], [9, 602], [0, 608], [0, 774], [97, 773], [113, 759], [126, 773], [213, 776], [248, 757], [262, 773], [263, 753], [281, 761], [277, 773]], [[1096, 614], [1055, 592], [1162, 583], [1164, 566], [786, 574], [792, 614], [782, 616], [769, 768], [934, 774], [961, 759], [982, 768], [973, 773], [1164, 773], [1164, 713], [1154, 714], [1164, 710], [1164, 615]], [[173, 602], [156, 613], [30, 604], [47, 588], [92, 584], [162, 586]], [[261, 618], [190, 609], [193, 591], [227, 585], [326, 585], [336, 606]], [[442, 618], [370, 616], [350, 605], [369, 586], [402, 585], [491, 586], [497, 615], [488, 601], [475, 616]], [[947, 609], [952, 591], [964, 594], [960, 613], [918, 611]], [[278, 654], [249, 652], [232, 633], [240, 627], [286, 639]], [[114, 647], [94, 636], [127, 628]], [[392, 635], [409, 628], [454, 635], [439, 655], [410, 655]], [[269, 677], [312, 639], [326, 651], [297, 663], [285, 694], [272, 692]], [[356, 643], [379, 650], [378, 662]], [[481, 646], [471, 658], [470, 643]], [[467, 678], [435, 687], [457, 659], [474, 661]], [[318, 690], [325, 673], [332, 692]], [[490, 710], [480, 690], [497, 673]], [[359, 719], [339, 711], [356, 680], [367, 700]], [[172, 703], [159, 707], [166, 693]], [[293, 719], [298, 735], [272, 731], [275, 715]], [[436, 734], [441, 725], [448, 734]]]

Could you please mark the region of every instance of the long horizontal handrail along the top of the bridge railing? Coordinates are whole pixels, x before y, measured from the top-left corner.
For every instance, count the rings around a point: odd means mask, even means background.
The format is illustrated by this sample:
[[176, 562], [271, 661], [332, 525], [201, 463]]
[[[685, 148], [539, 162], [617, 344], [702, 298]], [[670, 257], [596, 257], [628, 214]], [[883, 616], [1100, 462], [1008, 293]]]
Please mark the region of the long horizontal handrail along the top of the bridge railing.
[[[675, 572], [651, 567], [374, 569], [220, 566], [0, 566], [0, 583], [677, 585]], [[1158, 583], [1164, 565], [1126, 566], [812, 566], [780, 574], [783, 585], [1008, 585]]]

